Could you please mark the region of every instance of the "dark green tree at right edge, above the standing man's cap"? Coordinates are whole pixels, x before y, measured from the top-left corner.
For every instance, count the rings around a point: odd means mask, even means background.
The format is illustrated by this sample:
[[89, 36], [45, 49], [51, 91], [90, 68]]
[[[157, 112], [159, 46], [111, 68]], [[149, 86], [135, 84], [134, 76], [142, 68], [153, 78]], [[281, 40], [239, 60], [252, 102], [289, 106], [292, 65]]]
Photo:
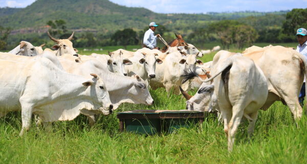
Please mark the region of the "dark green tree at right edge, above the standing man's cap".
[[283, 22], [282, 32], [293, 36], [299, 28], [307, 28], [307, 8], [293, 9], [286, 15], [286, 21]]

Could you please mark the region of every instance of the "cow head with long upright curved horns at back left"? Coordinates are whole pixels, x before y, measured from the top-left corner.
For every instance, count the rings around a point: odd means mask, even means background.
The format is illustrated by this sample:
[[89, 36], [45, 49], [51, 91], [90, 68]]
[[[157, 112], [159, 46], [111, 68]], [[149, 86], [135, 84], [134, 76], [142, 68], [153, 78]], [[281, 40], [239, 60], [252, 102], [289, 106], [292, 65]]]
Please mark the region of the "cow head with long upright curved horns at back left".
[[56, 56], [61, 56], [65, 53], [78, 56], [78, 50], [73, 47], [73, 43], [71, 42], [74, 37], [74, 33], [75, 32], [73, 32], [72, 35], [67, 39], [56, 39], [52, 37], [49, 32], [47, 32], [49, 38], [53, 40], [53, 42], [57, 43], [57, 45], [52, 46], [52, 49], [57, 51]]

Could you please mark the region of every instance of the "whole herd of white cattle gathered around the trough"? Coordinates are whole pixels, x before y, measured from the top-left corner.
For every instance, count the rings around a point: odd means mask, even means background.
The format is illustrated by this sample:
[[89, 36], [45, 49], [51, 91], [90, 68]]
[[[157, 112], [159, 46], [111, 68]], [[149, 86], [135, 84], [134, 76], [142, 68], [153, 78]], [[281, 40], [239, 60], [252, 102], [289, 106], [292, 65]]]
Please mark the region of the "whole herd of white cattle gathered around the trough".
[[[221, 50], [213, 61], [202, 63], [197, 57], [203, 53], [191, 44], [169, 47], [165, 53], [142, 48], [81, 55], [73, 48], [73, 35], [56, 39], [48, 33], [56, 43], [53, 50], [22, 41], [8, 53], [0, 52], [0, 117], [21, 110], [20, 135], [30, 128], [32, 114], [50, 128], [50, 122], [81, 113], [92, 126], [95, 114], [111, 114], [122, 103], [152, 105], [148, 88], [159, 87], [168, 94], [172, 88], [176, 94], [181, 91], [188, 110], [221, 113], [229, 150], [240, 120], [250, 121], [252, 134], [258, 110], [276, 100], [287, 104], [295, 119], [302, 116], [298, 93], [307, 63], [292, 49]], [[191, 88], [199, 89], [194, 96], [186, 92]]]

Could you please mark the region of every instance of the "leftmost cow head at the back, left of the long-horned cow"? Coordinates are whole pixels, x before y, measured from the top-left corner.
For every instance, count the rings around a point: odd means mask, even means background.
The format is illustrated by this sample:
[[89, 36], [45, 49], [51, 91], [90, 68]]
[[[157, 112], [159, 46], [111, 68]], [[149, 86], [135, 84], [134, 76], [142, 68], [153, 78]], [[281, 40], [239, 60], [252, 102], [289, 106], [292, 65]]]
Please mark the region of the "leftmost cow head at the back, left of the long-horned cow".
[[[41, 46], [43, 46], [43, 45], [41, 45]], [[41, 49], [41, 47], [40, 47], [40, 49]], [[19, 43], [19, 51], [16, 53], [16, 55], [36, 56], [36, 55], [41, 54], [41, 53], [42, 53], [42, 49], [40, 51], [38, 47], [34, 47], [31, 43], [21, 41]]]

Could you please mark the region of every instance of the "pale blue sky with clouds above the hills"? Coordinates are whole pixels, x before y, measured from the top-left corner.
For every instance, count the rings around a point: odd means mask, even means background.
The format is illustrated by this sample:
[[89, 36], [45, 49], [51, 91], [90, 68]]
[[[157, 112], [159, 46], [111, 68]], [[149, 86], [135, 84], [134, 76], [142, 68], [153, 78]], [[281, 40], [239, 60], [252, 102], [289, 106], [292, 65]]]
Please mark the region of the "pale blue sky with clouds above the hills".
[[[0, 0], [0, 7], [24, 8], [34, 1]], [[157, 13], [270, 12], [307, 8], [307, 0], [111, 0], [111, 2], [127, 7], [144, 7]]]

